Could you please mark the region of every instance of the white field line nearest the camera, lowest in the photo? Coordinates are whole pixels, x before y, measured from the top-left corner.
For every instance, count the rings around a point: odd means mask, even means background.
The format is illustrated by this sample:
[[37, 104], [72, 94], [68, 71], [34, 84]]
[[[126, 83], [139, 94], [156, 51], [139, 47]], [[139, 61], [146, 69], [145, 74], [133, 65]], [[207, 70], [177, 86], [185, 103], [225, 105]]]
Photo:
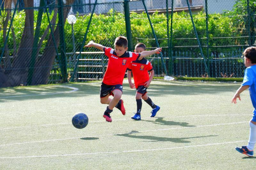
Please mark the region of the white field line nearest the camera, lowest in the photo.
[[75, 154], [62, 154], [62, 155], [41, 155], [41, 156], [17, 156], [17, 157], [0, 157], [0, 159], [20, 159], [20, 158], [48, 158], [48, 157], [63, 157], [63, 156], [79, 156], [79, 155], [96, 155], [96, 154], [111, 154], [111, 153], [129, 153], [129, 152], [147, 152], [147, 151], [163, 151], [171, 149], [181, 149], [181, 148], [192, 148], [192, 147], [201, 147], [201, 146], [212, 146], [220, 144], [232, 144], [239, 142], [247, 141], [233, 141], [233, 142], [223, 142], [223, 143], [214, 143], [214, 144], [200, 144], [200, 145], [190, 145], [190, 146], [179, 146], [172, 148], [157, 148], [157, 149], [145, 149], [145, 150], [131, 150], [131, 151], [114, 151], [114, 152], [92, 152], [92, 153], [75, 153]]

